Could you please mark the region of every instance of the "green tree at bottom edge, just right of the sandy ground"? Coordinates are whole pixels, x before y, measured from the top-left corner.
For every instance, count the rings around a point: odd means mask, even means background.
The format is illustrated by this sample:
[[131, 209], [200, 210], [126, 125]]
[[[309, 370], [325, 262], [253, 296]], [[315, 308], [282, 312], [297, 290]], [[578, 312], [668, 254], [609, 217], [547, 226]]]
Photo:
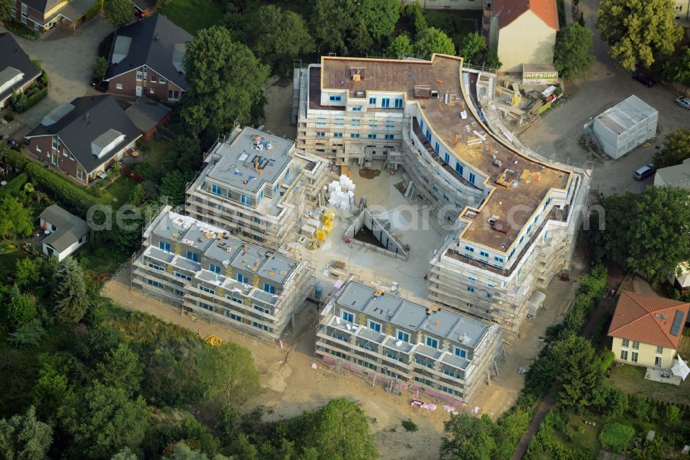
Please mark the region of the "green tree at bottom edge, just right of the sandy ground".
[[479, 418], [469, 414], [453, 415], [444, 422], [446, 437], [441, 443], [441, 457], [491, 459], [497, 450], [495, 430], [495, 423], [486, 414]]

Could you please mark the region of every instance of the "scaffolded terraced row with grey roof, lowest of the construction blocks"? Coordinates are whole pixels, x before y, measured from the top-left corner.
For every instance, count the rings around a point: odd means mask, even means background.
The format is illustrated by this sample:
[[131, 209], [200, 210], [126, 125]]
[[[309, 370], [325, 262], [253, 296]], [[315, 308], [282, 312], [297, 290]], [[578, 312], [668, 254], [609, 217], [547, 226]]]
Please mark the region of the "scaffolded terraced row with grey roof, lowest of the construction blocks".
[[497, 376], [502, 336], [498, 325], [349, 280], [321, 312], [316, 354], [337, 372], [466, 404]]

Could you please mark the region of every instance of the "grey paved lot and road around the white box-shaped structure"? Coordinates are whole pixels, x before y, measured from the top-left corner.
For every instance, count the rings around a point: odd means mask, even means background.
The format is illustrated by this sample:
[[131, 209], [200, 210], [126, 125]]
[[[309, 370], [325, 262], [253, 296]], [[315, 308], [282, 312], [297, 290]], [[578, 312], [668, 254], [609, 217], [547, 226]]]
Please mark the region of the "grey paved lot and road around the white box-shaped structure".
[[690, 126], [690, 112], [673, 102], [676, 93], [671, 89], [662, 85], [647, 88], [635, 82], [629, 73], [615, 68], [608, 55], [609, 47], [601, 41], [595, 28], [598, 3], [597, 0], [580, 1], [586, 26], [594, 35], [592, 52], [597, 62], [587, 73], [586, 81], [578, 85], [577, 93], [568, 102], [534, 122], [520, 138], [524, 144], [544, 157], [583, 162], [587, 160], [587, 155], [577, 144], [577, 140], [582, 135], [584, 124], [589, 122], [590, 117], [599, 115], [626, 97], [637, 95], [659, 111], [658, 135], [651, 140], [649, 146], [635, 148], [620, 160], [596, 162], [592, 189], [601, 191], [604, 195], [640, 191], [651, 184], [653, 179], [642, 182], [634, 180], [633, 172], [651, 161], [655, 147], [661, 146], [665, 135], [676, 128]]

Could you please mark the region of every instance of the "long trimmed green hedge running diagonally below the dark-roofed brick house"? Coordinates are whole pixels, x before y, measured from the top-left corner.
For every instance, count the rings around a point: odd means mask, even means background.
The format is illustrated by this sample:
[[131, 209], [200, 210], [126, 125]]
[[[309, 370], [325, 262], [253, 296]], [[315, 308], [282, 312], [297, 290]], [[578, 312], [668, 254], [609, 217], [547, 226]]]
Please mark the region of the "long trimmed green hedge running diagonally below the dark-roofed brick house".
[[66, 204], [72, 208], [72, 211], [77, 211], [82, 216], [86, 215], [90, 207], [99, 204], [95, 198], [83, 191], [81, 187], [60, 178], [45, 167], [23, 157], [21, 153], [15, 150], [8, 149], [6, 151], [6, 160], [13, 166], [23, 169], [31, 178], [34, 186], [48, 189], [52, 192], [53, 198]]

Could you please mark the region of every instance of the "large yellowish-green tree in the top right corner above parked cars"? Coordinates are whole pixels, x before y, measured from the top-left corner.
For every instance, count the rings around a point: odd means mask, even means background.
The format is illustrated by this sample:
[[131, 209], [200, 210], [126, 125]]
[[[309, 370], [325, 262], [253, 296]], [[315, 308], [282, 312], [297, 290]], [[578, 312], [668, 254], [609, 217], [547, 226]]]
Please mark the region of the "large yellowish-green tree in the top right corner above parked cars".
[[603, 0], [597, 28], [610, 46], [609, 54], [625, 70], [651, 66], [673, 52], [682, 38], [671, 0]]

